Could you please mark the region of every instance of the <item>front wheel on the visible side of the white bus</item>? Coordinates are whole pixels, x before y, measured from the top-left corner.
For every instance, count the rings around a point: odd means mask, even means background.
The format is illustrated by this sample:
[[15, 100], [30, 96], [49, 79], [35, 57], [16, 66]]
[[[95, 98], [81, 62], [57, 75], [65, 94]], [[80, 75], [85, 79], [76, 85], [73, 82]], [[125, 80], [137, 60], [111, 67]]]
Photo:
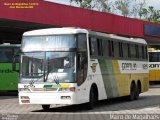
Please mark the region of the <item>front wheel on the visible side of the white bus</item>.
[[94, 93], [93, 87], [90, 90], [89, 102], [87, 103], [88, 109], [93, 109], [96, 102], [96, 95]]

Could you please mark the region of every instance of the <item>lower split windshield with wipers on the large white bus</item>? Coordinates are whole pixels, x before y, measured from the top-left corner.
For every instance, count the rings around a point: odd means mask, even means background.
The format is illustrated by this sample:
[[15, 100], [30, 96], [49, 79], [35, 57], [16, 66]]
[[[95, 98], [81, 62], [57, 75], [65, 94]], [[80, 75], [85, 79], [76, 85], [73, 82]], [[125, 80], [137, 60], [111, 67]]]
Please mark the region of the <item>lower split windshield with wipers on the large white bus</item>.
[[21, 62], [22, 83], [75, 81], [75, 52], [27, 52]]

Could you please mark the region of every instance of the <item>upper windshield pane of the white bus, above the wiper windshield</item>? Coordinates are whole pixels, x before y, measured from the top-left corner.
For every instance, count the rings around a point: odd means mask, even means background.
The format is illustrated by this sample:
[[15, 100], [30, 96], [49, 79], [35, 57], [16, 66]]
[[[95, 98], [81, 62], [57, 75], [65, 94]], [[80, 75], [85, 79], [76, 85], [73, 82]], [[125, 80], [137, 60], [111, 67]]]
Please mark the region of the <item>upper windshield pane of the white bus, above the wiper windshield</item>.
[[25, 36], [22, 50], [29, 51], [68, 51], [76, 48], [75, 35]]

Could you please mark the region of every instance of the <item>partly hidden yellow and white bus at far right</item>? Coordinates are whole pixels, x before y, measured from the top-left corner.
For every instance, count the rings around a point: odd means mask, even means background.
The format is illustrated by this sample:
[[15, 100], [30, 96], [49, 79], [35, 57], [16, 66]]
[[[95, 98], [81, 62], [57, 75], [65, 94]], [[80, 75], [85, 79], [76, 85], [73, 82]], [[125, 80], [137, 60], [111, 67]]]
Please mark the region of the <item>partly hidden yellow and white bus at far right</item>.
[[149, 45], [149, 81], [160, 81], [160, 45]]

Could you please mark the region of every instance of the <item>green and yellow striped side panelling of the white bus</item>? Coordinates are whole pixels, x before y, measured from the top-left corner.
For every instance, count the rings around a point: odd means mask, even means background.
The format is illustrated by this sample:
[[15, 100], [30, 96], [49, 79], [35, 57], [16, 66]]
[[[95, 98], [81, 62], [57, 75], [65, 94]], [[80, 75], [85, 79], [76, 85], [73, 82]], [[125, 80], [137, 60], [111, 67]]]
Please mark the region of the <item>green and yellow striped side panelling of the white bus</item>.
[[[99, 60], [100, 69], [102, 78], [104, 81], [105, 89], [107, 98], [114, 98], [114, 97], [120, 97], [120, 96], [127, 96], [130, 94], [130, 86], [131, 82], [135, 81], [137, 84], [137, 81], [141, 81], [141, 90], [142, 92], [145, 92], [148, 90], [148, 73], [146, 70], [142, 70], [142, 73], [136, 72], [136, 70], [133, 70], [135, 72], [128, 71], [123, 72], [120, 70], [120, 64], [118, 63], [118, 60]], [[142, 65], [142, 62], [139, 64]], [[142, 69], [137, 68], [137, 69]]]

